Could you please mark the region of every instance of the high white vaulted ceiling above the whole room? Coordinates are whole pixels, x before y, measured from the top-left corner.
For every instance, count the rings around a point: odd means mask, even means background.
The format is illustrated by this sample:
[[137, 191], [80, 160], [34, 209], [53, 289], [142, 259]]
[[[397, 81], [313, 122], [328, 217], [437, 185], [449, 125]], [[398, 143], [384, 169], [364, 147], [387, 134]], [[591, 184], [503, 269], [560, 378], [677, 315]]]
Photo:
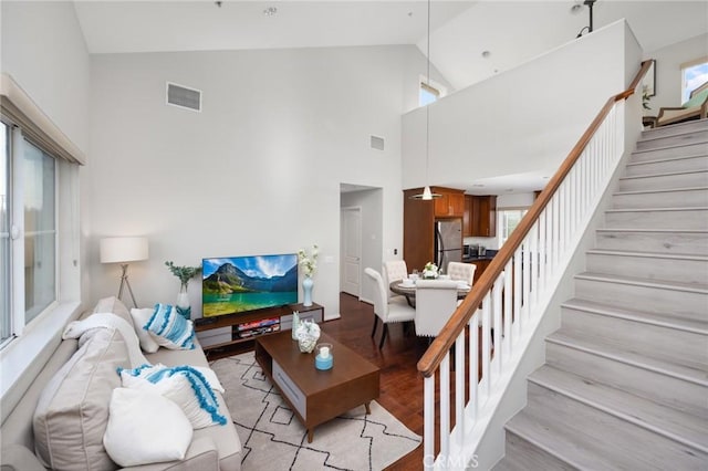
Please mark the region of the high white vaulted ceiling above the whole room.
[[[377, 44], [427, 50], [425, 0], [74, 4], [92, 53]], [[433, 0], [430, 61], [461, 88], [572, 41], [589, 13], [582, 0]], [[598, 0], [593, 17], [595, 29], [625, 18], [647, 52], [708, 32], [706, 0]]]

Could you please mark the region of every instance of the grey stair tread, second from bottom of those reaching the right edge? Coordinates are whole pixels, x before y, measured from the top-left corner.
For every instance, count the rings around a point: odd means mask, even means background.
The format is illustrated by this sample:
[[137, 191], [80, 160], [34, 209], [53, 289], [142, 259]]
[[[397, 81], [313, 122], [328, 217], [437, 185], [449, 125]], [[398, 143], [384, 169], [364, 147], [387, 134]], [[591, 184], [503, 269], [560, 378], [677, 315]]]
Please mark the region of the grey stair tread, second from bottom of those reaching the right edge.
[[554, 342], [571, 348], [593, 353], [606, 358], [612, 358], [625, 364], [635, 365], [652, 371], [663, 373], [676, 378], [680, 378], [697, 385], [708, 387], [708, 373], [705, 368], [696, 368], [693, 365], [679, 365], [675, 359], [662, 358], [662, 349], [657, 348], [654, 356], [637, 354], [620, 346], [614, 342], [608, 342], [598, 337], [590, 337], [582, 332], [561, 327], [546, 337], [546, 342]]

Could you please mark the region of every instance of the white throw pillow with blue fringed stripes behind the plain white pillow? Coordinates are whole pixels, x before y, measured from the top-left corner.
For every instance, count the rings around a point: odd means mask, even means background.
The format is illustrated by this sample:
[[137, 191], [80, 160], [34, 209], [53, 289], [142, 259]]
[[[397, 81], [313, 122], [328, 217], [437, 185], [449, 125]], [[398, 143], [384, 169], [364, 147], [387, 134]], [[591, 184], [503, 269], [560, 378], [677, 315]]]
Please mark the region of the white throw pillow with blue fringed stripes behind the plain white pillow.
[[119, 368], [118, 373], [123, 387], [153, 391], [173, 400], [195, 430], [226, 423], [211, 385], [191, 366], [144, 365], [134, 369]]

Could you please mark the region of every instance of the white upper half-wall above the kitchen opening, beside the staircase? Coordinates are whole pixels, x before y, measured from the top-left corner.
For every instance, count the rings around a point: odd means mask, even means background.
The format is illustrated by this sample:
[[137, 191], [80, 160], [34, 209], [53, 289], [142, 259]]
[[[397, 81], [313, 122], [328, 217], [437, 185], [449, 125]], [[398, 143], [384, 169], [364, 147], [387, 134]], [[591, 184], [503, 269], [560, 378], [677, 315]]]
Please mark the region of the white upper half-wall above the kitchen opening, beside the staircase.
[[[425, 109], [404, 115], [403, 187], [466, 188], [503, 175], [552, 175], [607, 97], [628, 85], [625, 51], [617, 46], [627, 35], [624, 21], [613, 23], [430, 105], [428, 178]], [[628, 66], [636, 72], [639, 65]]]

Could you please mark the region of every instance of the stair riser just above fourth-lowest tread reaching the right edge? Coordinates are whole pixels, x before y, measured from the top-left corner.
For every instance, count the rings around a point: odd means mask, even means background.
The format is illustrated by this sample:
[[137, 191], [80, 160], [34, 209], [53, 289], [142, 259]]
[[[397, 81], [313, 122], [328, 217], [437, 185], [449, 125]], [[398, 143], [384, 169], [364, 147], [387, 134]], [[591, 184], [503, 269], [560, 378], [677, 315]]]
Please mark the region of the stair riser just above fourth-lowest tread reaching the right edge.
[[704, 285], [708, 282], [708, 262], [705, 260], [587, 253], [586, 269], [592, 273], [616, 274], [648, 280], [702, 283]]

